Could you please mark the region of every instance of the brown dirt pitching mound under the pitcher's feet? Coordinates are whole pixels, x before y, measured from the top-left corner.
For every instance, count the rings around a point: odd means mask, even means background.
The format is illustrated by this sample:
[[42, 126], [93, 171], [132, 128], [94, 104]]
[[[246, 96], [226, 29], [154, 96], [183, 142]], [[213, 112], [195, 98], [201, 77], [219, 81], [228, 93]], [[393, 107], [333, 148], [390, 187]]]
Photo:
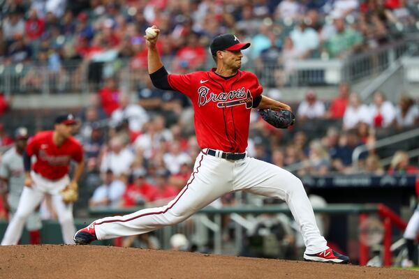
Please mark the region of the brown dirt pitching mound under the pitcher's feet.
[[141, 250], [1, 246], [0, 278], [419, 278], [417, 271]]

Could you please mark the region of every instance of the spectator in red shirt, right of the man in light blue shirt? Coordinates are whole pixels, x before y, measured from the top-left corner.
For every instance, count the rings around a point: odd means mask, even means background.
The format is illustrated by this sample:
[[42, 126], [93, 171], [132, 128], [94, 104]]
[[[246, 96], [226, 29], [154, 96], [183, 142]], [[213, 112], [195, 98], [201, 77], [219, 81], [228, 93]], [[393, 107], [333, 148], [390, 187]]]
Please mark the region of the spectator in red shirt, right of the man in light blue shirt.
[[154, 202], [159, 197], [156, 186], [146, 180], [147, 171], [144, 168], [133, 170], [133, 183], [130, 184], [122, 197], [122, 206], [131, 207]]

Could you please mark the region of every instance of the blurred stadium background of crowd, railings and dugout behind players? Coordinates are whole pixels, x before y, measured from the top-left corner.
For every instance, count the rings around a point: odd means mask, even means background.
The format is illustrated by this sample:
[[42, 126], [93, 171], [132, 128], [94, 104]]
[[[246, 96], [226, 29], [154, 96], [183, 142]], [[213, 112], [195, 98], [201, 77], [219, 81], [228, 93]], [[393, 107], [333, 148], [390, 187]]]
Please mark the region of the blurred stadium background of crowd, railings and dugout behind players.
[[[209, 45], [220, 33], [250, 42], [242, 69], [297, 121], [276, 130], [252, 112], [249, 156], [302, 179], [329, 245], [353, 262], [404, 257], [399, 239], [419, 188], [418, 0], [0, 0], [0, 25], [1, 152], [17, 127], [34, 135], [60, 112], [78, 115], [87, 161], [78, 227], [166, 204], [200, 152], [189, 99], [149, 80], [142, 36], [156, 25], [170, 73], [214, 67]], [[41, 213], [41, 242], [61, 243], [47, 200]], [[0, 219], [2, 236], [2, 205]], [[304, 250], [286, 204], [245, 193], [177, 226], [99, 244], [283, 259]]]

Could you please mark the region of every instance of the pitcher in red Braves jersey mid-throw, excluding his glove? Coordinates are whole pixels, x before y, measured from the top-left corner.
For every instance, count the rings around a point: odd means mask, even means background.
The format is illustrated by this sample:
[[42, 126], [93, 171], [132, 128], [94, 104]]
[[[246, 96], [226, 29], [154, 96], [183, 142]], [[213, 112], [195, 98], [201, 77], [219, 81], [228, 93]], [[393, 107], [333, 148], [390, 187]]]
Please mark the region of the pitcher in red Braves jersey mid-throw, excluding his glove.
[[245, 190], [288, 204], [306, 245], [304, 259], [348, 263], [349, 258], [329, 248], [320, 234], [300, 179], [286, 169], [247, 156], [251, 109], [291, 110], [289, 105], [263, 96], [256, 75], [240, 70], [241, 50], [250, 43], [240, 43], [233, 34], [216, 36], [210, 45], [216, 68], [169, 75], [156, 50], [160, 30], [152, 29], [156, 36], [145, 36], [150, 78], [157, 88], [179, 91], [191, 99], [196, 139], [202, 151], [186, 186], [166, 206], [95, 220], [75, 234], [75, 243], [145, 234], [175, 225], [215, 199]]

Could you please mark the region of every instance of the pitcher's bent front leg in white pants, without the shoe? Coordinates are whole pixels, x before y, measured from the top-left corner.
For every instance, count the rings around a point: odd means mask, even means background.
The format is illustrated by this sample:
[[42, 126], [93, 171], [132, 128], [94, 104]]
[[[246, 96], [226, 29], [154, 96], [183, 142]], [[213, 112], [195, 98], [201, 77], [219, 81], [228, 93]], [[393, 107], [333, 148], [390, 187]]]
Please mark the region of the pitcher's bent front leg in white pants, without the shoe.
[[249, 193], [266, 197], [283, 199], [289, 206], [297, 222], [306, 253], [316, 254], [328, 249], [327, 242], [316, 225], [313, 208], [302, 182], [291, 172], [276, 165], [246, 158], [237, 162], [235, 190], [246, 190]]

